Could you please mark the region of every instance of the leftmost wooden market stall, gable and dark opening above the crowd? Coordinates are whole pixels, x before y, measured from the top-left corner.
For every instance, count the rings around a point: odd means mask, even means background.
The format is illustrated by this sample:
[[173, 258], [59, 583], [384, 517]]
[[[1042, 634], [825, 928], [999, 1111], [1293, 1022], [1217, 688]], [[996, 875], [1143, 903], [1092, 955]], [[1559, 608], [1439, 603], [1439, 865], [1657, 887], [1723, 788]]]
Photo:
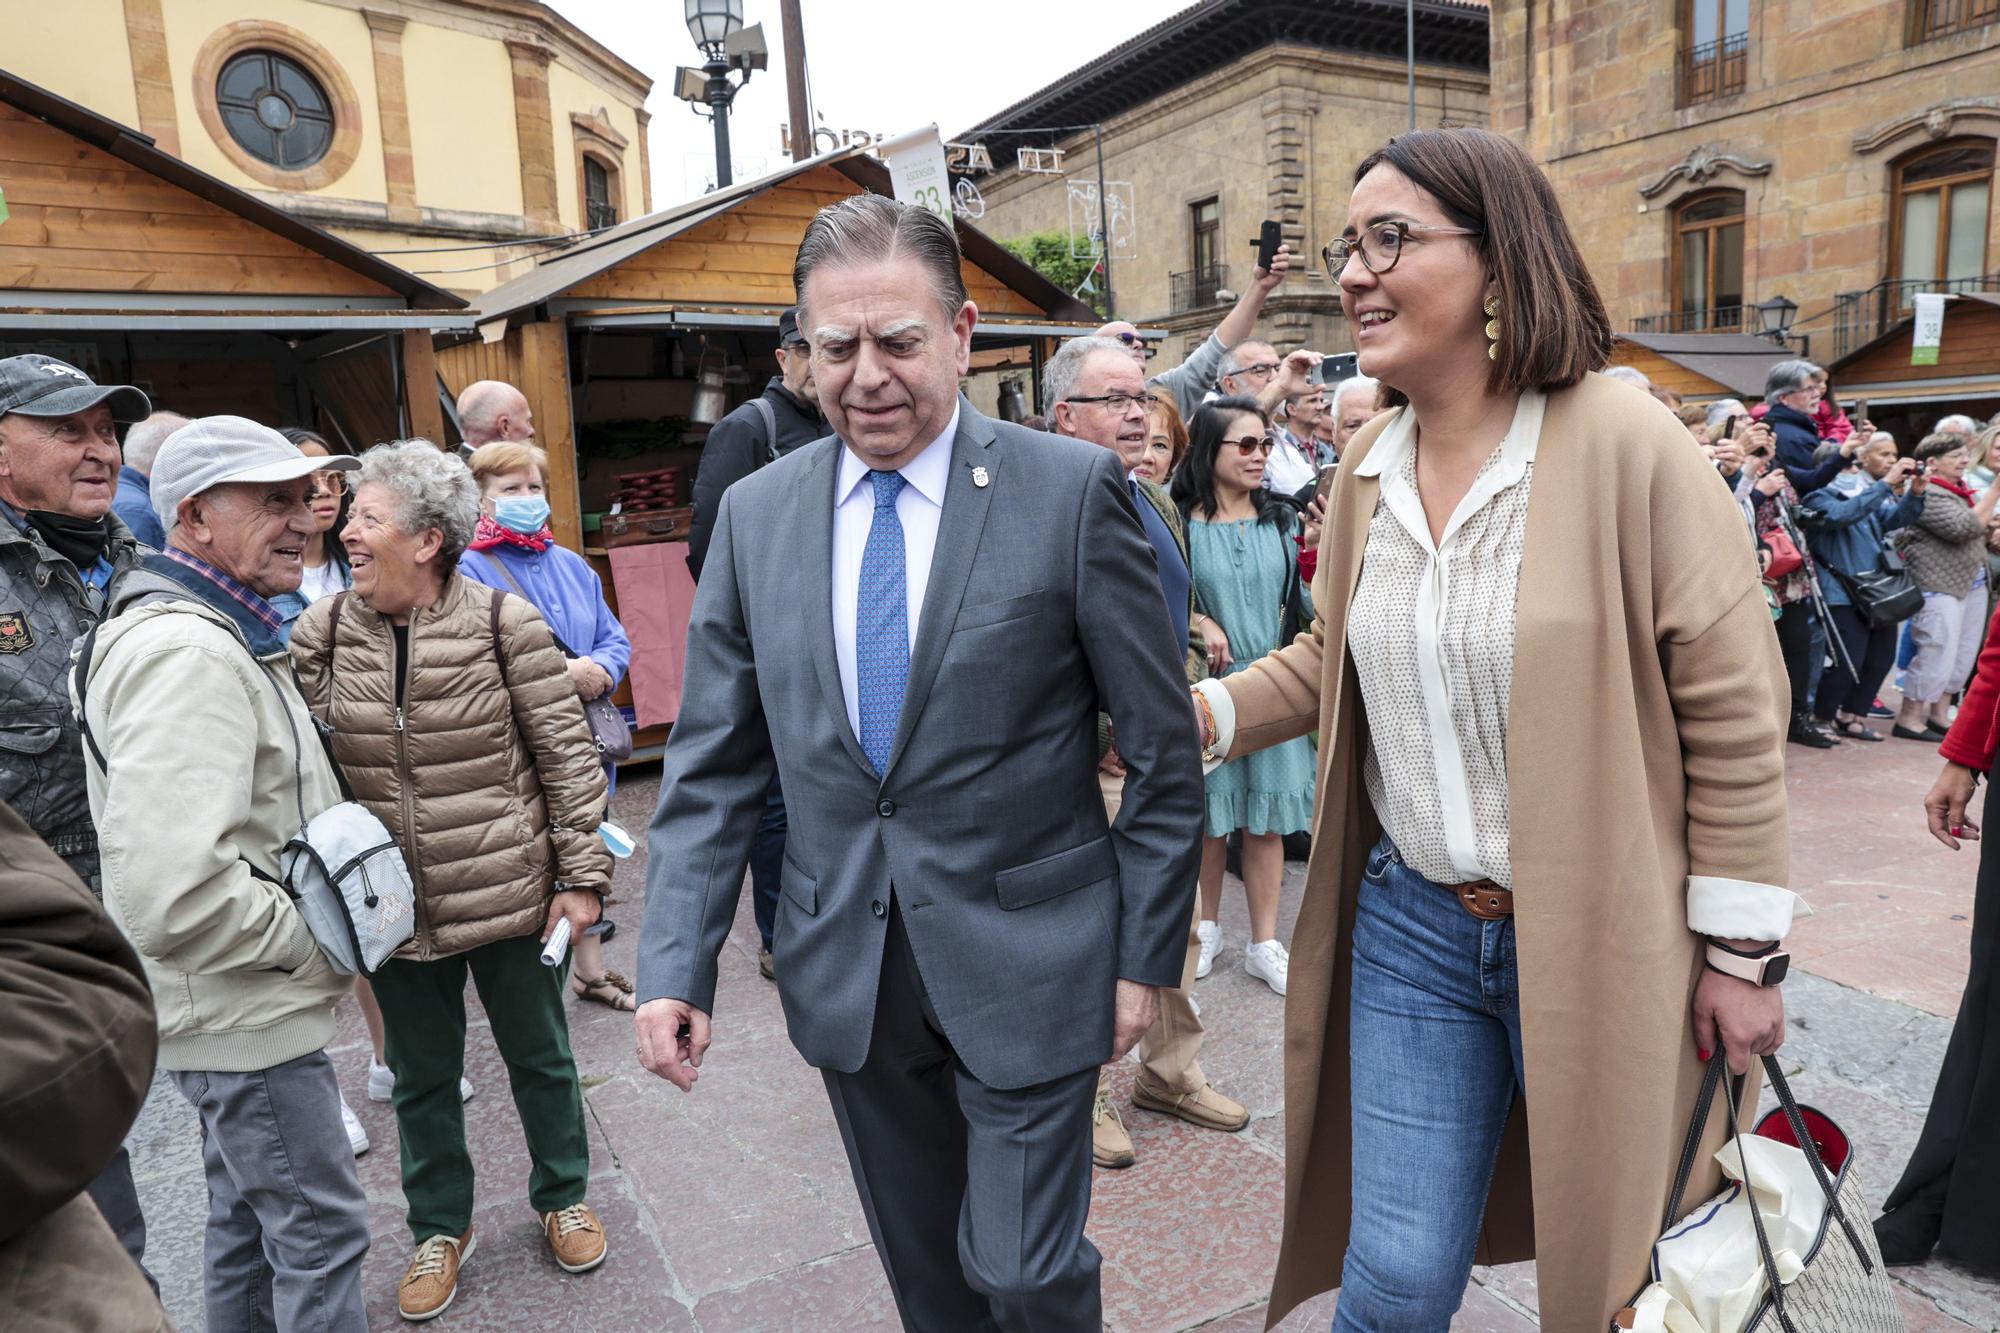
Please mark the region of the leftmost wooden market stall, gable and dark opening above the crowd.
[[4, 70], [0, 202], [0, 356], [352, 452], [444, 440], [432, 338], [472, 328], [458, 296]]

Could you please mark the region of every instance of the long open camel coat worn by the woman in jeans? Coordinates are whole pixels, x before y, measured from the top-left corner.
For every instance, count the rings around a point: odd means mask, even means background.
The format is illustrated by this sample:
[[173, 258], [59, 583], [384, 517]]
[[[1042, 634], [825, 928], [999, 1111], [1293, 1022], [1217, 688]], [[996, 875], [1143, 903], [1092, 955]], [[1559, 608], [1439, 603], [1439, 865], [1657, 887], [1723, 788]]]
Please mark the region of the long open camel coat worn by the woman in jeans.
[[[1380, 825], [1346, 616], [1380, 490], [1354, 464], [1388, 420], [1342, 456], [1312, 630], [1224, 681], [1230, 755], [1320, 731], [1286, 999], [1272, 1323], [1340, 1283], [1348, 1243], [1350, 933]], [[1538, 1259], [1552, 1333], [1602, 1333], [1646, 1279], [1702, 1077], [1688, 877], [1716, 877], [1710, 895], [1786, 885], [1788, 709], [1750, 534], [1686, 428], [1598, 374], [1548, 394], [1506, 755], [1526, 1107], [1502, 1139], [1478, 1261]], [[1716, 1117], [1706, 1151], [1720, 1141]], [[1688, 1199], [1718, 1181], [1708, 1167]]]

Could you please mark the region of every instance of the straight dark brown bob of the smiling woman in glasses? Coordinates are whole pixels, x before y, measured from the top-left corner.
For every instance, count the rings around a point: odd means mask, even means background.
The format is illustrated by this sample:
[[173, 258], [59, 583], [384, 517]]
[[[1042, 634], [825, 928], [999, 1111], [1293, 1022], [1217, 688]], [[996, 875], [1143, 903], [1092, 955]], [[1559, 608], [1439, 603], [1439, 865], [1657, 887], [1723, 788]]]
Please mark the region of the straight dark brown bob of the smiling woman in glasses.
[[[1612, 354], [1612, 320], [1548, 176], [1520, 144], [1492, 130], [1412, 130], [1362, 158], [1354, 184], [1394, 166], [1438, 200], [1478, 246], [1500, 286], [1500, 354], [1486, 372], [1490, 392], [1548, 392], [1580, 382]], [[1466, 300], [1478, 302], [1478, 292]], [[1382, 386], [1378, 406], [1408, 396]]]

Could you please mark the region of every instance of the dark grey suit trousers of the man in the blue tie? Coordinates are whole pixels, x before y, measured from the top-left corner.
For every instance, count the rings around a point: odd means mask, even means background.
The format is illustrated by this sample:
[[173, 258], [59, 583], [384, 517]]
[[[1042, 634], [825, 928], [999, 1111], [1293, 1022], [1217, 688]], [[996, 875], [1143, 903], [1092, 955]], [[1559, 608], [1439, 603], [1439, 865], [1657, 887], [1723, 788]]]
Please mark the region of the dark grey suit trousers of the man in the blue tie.
[[944, 1035], [894, 899], [868, 1059], [820, 1075], [904, 1329], [1102, 1327], [1084, 1237], [1096, 1071], [980, 1083]]

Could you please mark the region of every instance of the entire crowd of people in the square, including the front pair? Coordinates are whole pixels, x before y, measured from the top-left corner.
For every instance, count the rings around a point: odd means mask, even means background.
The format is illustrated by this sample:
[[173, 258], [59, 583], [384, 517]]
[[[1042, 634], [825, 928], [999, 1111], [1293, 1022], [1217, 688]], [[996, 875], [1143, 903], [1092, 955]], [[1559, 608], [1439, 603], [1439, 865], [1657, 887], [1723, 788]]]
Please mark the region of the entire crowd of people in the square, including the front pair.
[[[1976, 837], [2000, 420], [1896, 440], [1804, 360], [1752, 406], [1596, 374], [1610, 324], [1548, 180], [1480, 130], [1370, 154], [1322, 258], [1368, 376], [1256, 336], [1280, 246], [1182, 366], [1148, 380], [1124, 322], [1062, 344], [1028, 428], [960, 394], [978, 312], [946, 222], [868, 194], [814, 218], [778, 374], [694, 488], [636, 979], [602, 949], [630, 841], [586, 715], [632, 644], [554, 542], [514, 386], [462, 394], [460, 454], [354, 456], [0, 360], [0, 929], [32, 945], [0, 981], [68, 1015], [32, 1051], [0, 1025], [8, 1091], [48, 1089], [0, 1115], [28, 1201], [0, 1281], [60, 1247], [98, 1279], [64, 1299], [164, 1327], [122, 1147], [156, 1061], [200, 1121], [208, 1327], [366, 1327], [370, 1143], [326, 1055], [354, 993], [400, 1139], [396, 1305], [442, 1315], [476, 1247], [468, 981], [550, 1259], [596, 1269], [568, 1003], [632, 1013], [692, 1091], [748, 873], [906, 1327], [1098, 1327], [1092, 1165], [1138, 1157], [1112, 1063], [1136, 1055], [1138, 1109], [1250, 1117], [1192, 995], [1238, 867], [1242, 971], [1288, 999], [1274, 1315], [1338, 1283], [1336, 1333], [1444, 1329], [1484, 1237], [1540, 1259], [1550, 1327], [1600, 1325], [1698, 1067], [1784, 1039], [1784, 741], [1944, 741], [1932, 831]], [[288, 881], [344, 803], [414, 895], [360, 979]], [[1890, 1261], [1996, 1245], [1966, 1203], [1990, 1153], [1962, 1147], [1992, 1113], [1988, 971]]]

